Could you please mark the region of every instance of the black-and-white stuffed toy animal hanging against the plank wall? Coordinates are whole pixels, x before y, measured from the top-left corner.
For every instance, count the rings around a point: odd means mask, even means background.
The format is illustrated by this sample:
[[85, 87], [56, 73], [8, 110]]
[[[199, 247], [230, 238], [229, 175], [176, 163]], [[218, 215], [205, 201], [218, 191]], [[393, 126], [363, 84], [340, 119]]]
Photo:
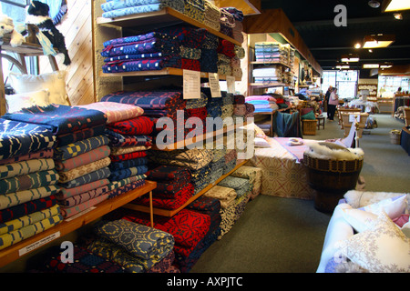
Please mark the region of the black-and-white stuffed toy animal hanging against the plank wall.
[[70, 65], [71, 60], [68, 55], [64, 35], [59, 32], [53, 20], [48, 16], [50, 7], [40, 1], [31, 1], [27, 8], [26, 22], [36, 25], [40, 31], [46, 35], [51, 44], [56, 47], [59, 53], [64, 55], [64, 65]]

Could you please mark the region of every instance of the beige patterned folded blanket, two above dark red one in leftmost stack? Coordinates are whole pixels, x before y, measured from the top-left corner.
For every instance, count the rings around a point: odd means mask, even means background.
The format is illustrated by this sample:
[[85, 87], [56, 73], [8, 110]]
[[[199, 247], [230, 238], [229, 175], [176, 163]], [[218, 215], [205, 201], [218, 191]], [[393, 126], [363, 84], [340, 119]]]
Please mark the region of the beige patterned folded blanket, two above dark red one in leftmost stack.
[[0, 194], [23, 191], [38, 188], [41, 186], [55, 185], [58, 181], [58, 174], [55, 169], [37, 171], [32, 174], [15, 176], [0, 180]]

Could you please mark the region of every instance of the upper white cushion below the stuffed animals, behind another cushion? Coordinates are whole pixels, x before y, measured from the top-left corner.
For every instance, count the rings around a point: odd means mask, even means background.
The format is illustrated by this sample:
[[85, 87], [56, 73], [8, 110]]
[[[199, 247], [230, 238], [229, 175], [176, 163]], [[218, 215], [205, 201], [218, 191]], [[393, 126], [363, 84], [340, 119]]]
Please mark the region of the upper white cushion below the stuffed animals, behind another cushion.
[[10, 73], [9, 78], [17, 94], [47, 89], [50, 92], [50, 103], [69, 105], [67, 101], [66, 75], [66, 71], [56, 71], [40, 75]]

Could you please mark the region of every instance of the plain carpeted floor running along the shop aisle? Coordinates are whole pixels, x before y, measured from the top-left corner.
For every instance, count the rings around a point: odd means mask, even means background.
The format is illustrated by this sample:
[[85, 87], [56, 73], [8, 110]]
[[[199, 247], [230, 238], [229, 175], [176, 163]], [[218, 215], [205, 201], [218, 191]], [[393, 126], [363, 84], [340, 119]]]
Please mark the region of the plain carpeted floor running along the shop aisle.
[[[410, 156], [390, 143], [390, 130], [403, 123], [391, 115], [372, 115], [378, 127], [363, 135], [365, 190], [406, 192]], [[306, 139], [343, 137], [337, 121]], [[246, 206], [231, 231], [200, 256], [191, 273], [314, 273], [319, 265], [330, 215], [314, 209], [312, 200], [258, 196]]]

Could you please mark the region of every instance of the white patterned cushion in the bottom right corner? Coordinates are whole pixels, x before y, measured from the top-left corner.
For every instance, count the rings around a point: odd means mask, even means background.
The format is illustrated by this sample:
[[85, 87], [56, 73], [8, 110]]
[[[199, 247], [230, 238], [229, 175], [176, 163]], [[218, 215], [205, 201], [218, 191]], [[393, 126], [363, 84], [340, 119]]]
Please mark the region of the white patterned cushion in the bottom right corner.
[[384, 212], [369, 229], [337, 246], [343, 256], [370, 272], [410, 272], [410, 239]]

